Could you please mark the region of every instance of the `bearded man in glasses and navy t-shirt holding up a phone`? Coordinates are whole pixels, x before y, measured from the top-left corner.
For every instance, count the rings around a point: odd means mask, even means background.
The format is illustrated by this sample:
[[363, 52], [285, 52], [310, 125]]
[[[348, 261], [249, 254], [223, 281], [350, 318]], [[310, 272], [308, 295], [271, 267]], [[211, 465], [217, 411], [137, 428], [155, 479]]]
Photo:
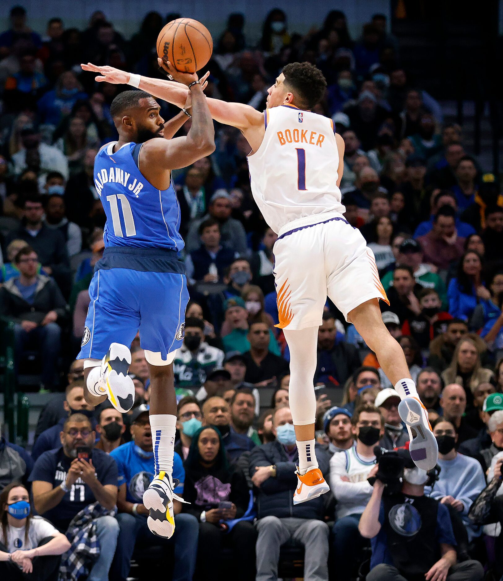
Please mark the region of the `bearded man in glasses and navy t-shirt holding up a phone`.
[[[117, 464], [94, 449], [95, 432], [83, 414], [73, 414], [60, 433], [61, 447], [44, 452], [30, 475], [33, 503], [38, 514], [65, 533], [70, 521], [89, 504], [98, 502], [112, 511], [117, 503]], [[87, 447], [88, 460], [77, 458], [77, 449]], [[94, 521], [101, 551], [91, 567], [88, 581], [108, 579], [117, 544], [119, 525], [110, 515]]]

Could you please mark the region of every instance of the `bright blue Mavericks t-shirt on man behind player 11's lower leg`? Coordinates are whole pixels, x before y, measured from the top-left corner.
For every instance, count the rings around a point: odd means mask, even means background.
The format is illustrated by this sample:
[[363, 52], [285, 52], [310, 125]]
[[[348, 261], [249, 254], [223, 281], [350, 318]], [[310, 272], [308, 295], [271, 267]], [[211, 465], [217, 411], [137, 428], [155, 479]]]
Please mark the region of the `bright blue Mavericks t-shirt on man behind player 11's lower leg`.
[[[127, 442], [112, 450], [110, 456], [117, 462], [119, 486], [126, 485], [126, 500], [130, 503], [142, 503], [143, 493], [154, 478], [154, 453], [144, 452], [134, 442]], [[185, 469], [176, 452], [173, 458], [173, 478], [179, 480], [174, 492], [183, 494]]]

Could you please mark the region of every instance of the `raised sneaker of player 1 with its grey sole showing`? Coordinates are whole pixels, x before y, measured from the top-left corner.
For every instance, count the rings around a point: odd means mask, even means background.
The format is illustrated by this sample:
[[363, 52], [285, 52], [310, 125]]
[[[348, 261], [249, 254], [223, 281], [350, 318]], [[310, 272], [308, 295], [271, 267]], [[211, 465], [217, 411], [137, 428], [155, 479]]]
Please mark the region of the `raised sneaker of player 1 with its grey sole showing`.
[[416, 397], [405, 397], [398, 404], [398, 413], [409, 432], [409, 451], [414, 464], [423, 470], [431, 470], [437, 464], [438, 444], [426, 408]]

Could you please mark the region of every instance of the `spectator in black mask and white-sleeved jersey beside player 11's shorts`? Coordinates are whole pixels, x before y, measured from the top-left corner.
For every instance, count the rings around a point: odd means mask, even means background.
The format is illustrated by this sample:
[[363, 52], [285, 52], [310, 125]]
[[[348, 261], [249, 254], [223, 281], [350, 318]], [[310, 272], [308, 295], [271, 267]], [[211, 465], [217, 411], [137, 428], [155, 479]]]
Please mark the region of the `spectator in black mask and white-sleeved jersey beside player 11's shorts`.
[[199, 388], [215, 367], [222, 367], [224, 353], [204, 340], [204, 321], [195, 317], [185, 320], [183, 345], [173, 361], [174, 385], [177, 388]]

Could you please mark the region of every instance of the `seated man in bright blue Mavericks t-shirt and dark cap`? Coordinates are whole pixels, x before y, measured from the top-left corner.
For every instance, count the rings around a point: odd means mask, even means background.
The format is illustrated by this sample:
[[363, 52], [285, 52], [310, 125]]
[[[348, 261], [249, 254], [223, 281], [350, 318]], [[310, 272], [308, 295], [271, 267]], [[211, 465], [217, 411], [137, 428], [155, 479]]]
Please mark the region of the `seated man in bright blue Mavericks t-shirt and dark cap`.
[[[119, 494], [117, 496], [117, 521], [120, 532], [112, 565], [112, 578], [126, 581], [129, 576], [131, 555], [135, 543], [141, 547], [174, 545], [173, 581], [192, 581], [197, 555], [199, 524], [191, 514], [181, 514], [181, 503], [174, 500], [176, 535], [163, 539], [151, 533], [147, 525], [148, 510], [142, 504], [142, 495], [154, 478], [154, 453], [148, 421], [148, 406], [135, 408], [131, 415], [133, 440], [122, 444], [110, 453], [119, 468]], [[185, 470], [180, 456], [173, 458], [173, 479], [179, 480], [174, 492], [183, 493]]]

